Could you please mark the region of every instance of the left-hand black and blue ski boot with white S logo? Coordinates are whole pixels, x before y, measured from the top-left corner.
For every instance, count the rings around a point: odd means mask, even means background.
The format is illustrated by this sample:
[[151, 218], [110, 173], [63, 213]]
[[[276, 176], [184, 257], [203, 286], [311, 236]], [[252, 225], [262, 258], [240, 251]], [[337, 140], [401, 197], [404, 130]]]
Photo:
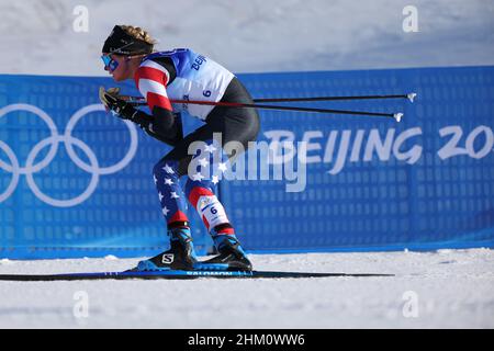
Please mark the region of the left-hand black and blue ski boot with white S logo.
[[198, 259], [192, 244], [189, 228], [172, 228], [168, 230], [170, 237], [170, 249], [141, 261], [137, 271], [168, 271], [168, 270], [193, 270]]

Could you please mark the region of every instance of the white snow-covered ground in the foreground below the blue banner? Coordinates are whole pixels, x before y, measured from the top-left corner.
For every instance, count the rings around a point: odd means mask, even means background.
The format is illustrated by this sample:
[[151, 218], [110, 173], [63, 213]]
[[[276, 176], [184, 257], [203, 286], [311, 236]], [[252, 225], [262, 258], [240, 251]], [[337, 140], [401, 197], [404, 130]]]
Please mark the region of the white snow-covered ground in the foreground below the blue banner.
[[[493, 250], [251, 258], [258, 270], [396, 276], [0, 282], [0, 327], [494, 328]], [[0, 261], [0, 274], [114, 271], [135, 262], [114, 258]], [[88, 317], [80, 305], [85, 302]]]

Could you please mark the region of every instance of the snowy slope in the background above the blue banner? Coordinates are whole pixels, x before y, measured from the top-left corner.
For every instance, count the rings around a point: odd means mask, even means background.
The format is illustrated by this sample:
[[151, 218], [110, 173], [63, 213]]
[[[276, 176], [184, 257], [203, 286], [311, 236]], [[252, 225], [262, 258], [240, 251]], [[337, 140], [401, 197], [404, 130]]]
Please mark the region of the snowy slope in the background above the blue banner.
[[[411, 4], [416, 33], [403, 31]], [[77, 5], [88, 32], [74, 30]], [[235, 72], [494, 64], [493, 0], [0, 0], [0, 72], [105, 76], [99, 55], [114, 24]]]

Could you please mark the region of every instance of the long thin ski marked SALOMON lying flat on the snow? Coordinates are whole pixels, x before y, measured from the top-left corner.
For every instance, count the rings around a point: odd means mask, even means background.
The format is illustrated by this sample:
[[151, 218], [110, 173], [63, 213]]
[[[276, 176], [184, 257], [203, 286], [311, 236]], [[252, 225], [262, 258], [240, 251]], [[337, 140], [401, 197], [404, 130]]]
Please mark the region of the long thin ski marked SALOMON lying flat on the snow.
[[394, 276], [380, 273], [316, 273], [316, 272], [276, 272], [276, 271], [123, 271], [64, 274], [0, 274], [0, 281], [47, 282], [47, 281], [88, 281], [88, 280], [183, 280], [198, 278], [215, 279], [300, 279], [330, 276]]

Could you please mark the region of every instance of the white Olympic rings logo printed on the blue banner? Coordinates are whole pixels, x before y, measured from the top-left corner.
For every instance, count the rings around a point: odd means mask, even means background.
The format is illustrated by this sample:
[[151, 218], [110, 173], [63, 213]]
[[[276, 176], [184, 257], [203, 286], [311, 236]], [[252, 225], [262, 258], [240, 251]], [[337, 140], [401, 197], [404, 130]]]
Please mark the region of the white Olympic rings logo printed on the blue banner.
[[[19, 163], [19, 160], [13, 152], [13, 150], [2, 140], [0, 140], [0, 149], [5, 152], [10, 165], [4, 162], [0, 159], [0, 169], [3, 169], [7, 172], [12, 173], [12, 179], [7, 186], [7, 190], [3, 192], [0, 192], [0, 203], [5, 201], [7, 199], [12, 195], [12, 193], [15, 191], [19, 179], [21, 174], [25, 176], [26, 182], [31, 189], [31, 191], [36, 195], [37, 199], [43, 201], [46, 204], [49, 204], [52, 206], [56, 207], [71, 207], [81, 204], [86, 200], [88, 200], [92, 193], [96, 191], [100, 176], [111, 174], [115, 173], [122, 169], [124, 169], [134, 158], [136, 151], [137, 151], [137, 129], [135, 125], [130, 121], [123, 121], [125, 125], [128, 128], [128, 132], [131, 133], [131, 146], [127, 151], [127, 154], [124, 156], [124, 158], [119, 161], [117, 163], [110, 166], [110, 167], [100, 167], [98, 162], [98, 158], [96, 157], [94, 152], [91, 150], [91, 148], [83, 143], [82, 140], [74, 137], [71, 135], [71, 131], [74, 131], [76, 124], [79, 122], [80, 118], [82, 118], [86, 114], [96, 112], [96, 111], [104, 111], [104, 106], [102, 104], [92, 104], [85, 106], [80, 110], [78, 110], [69, 120], [67, 123], [67, 126], [65, 128], [65, 132], [63, 135], [58, 134], [57, 127], [54, 123], [54, 121], [49, 117], [49, 115], [44, 112], [43, 110], [24, 103], [15, 103], [10, 104], [0, 109], [0, 118], [7, 115], [8, 113], [14, 112], [14, 111], [26, 111], [34, 113], [38, 117], [41, 117], [46, 125], [48, 126], [52, 135], [40, 143], [37, 143], [27, 155], [27, 159], [25, 161], [25, 166], [21, 167]], [[46, 168], [55, 158], [57, 151], [58, 151], [58, 145], [63, 143], [65, 146], [65, 149], [67, 150], [68, 156], [70, 157], [71, 161], [77, 165], [80, 169], [91, 174], [91, 180], [89, 182], [88, 188], [78, 196], [69, 200], [57, 200], [53, 199], [45, 193], [43, 193], [37, 184], [34, 181], [34, 173], [40, 172], [42, 169]], [[37, 163], [34, 163], [37, 155], [42, 149], [49, 146], [49, 150], [45, 158], [41, 160]], [[82, 161], [77, 154], [74, 150], [74, 147], [78, 147], [80, 150], [82, 150], [88, 160], [89, 165]], [[0, 190], [1, 191], [1, 190]]]

